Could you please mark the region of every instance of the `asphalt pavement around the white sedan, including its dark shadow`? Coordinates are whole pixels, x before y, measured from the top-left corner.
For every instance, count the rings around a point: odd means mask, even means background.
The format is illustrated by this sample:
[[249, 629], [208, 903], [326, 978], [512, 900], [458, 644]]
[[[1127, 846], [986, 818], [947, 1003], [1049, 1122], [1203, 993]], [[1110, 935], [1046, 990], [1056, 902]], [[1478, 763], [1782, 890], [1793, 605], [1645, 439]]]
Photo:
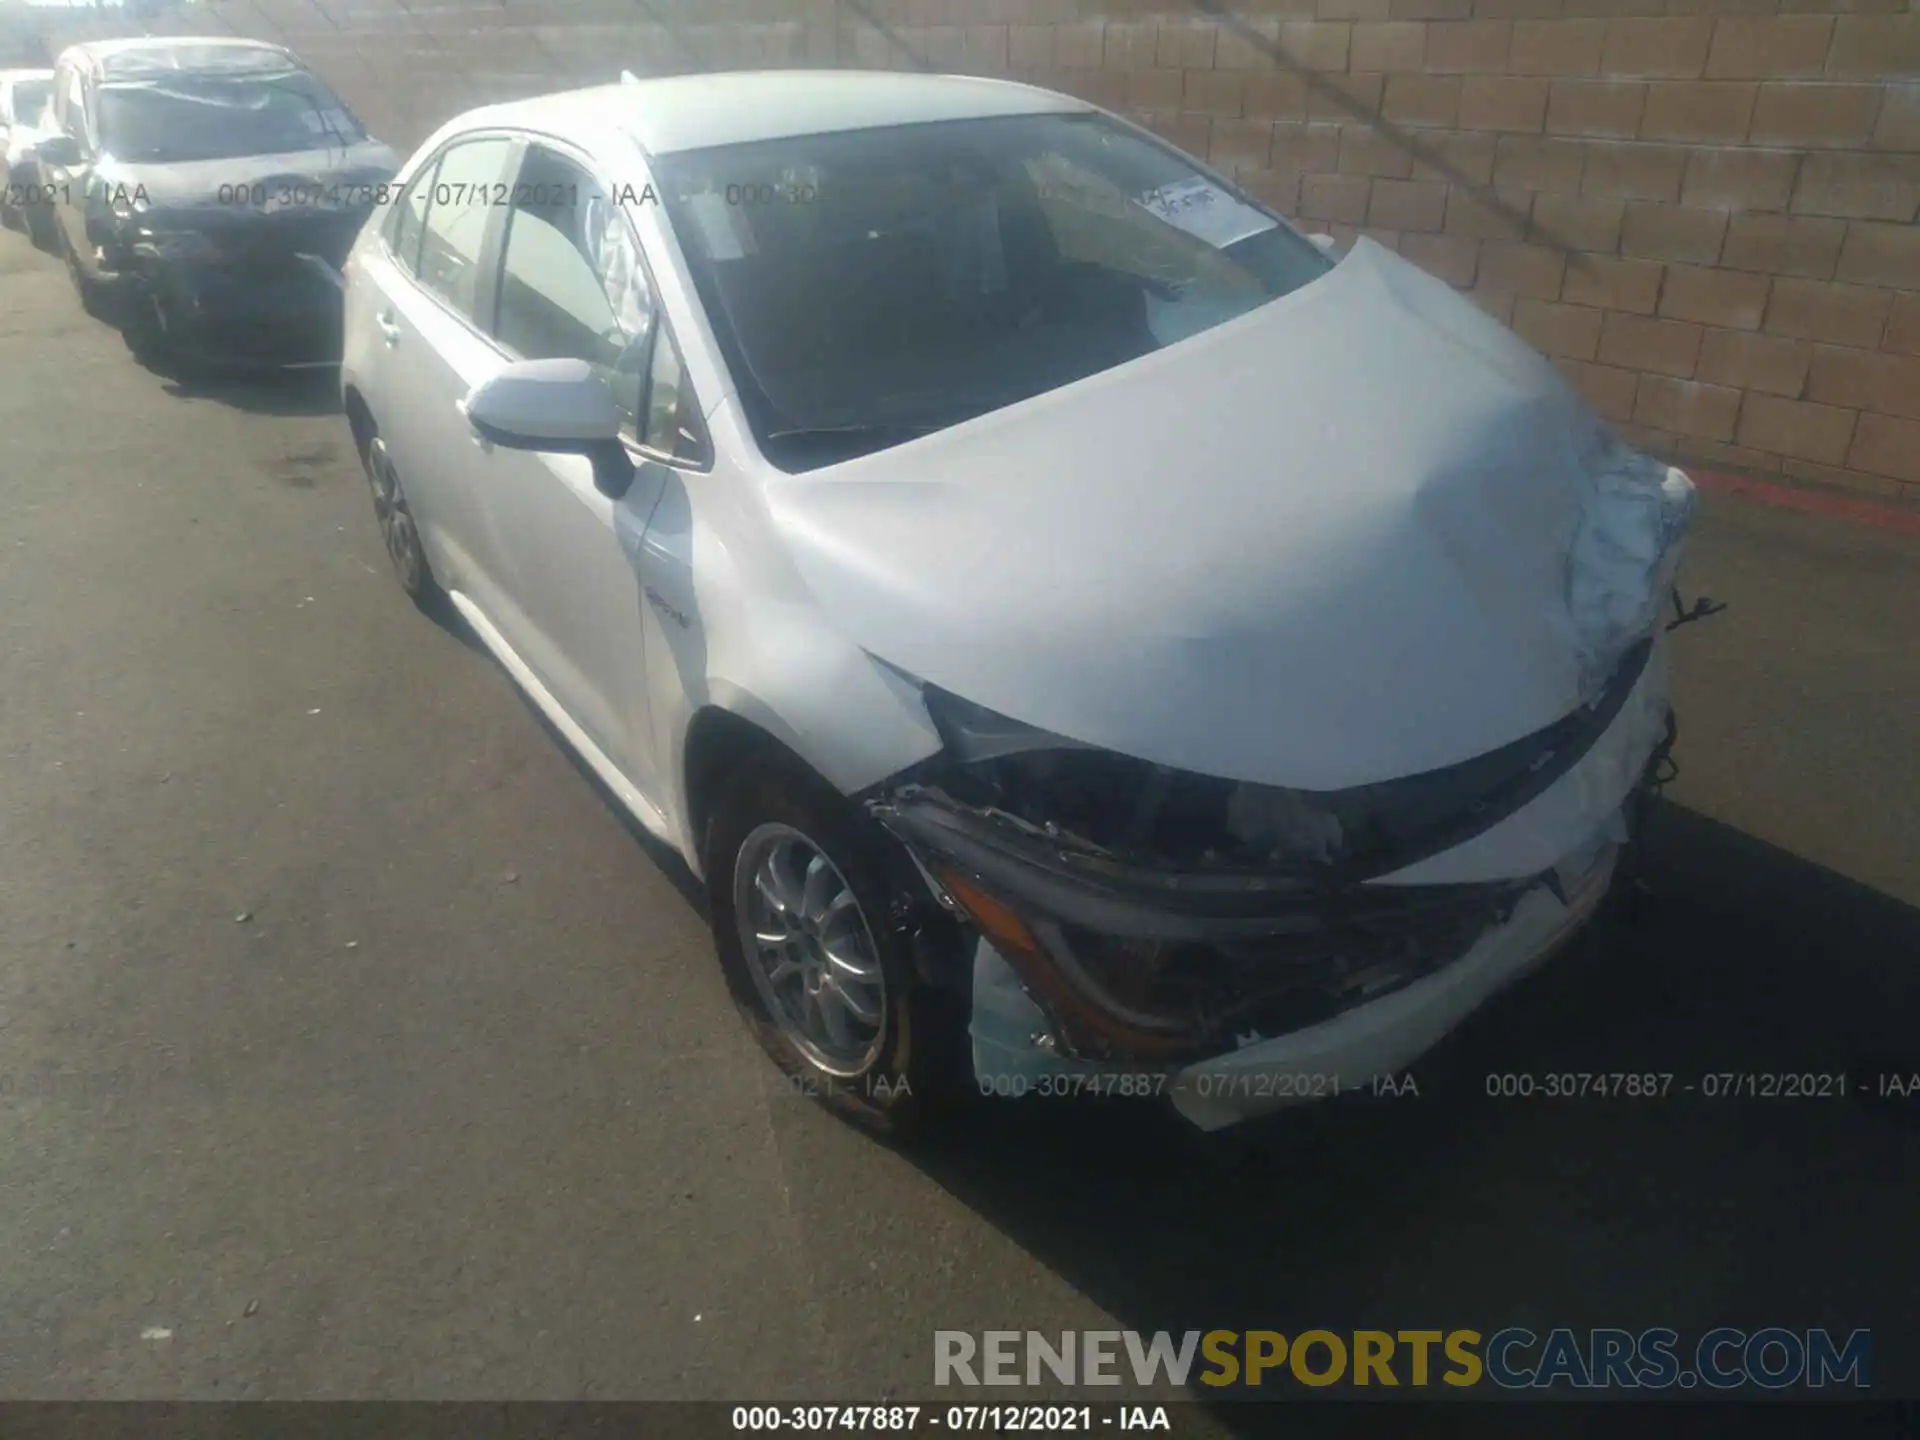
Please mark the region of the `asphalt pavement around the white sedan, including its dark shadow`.
[[[397, 591], [326, 378], [140, 369], [0, 236], [0, 1396], [929, 1396], [933, 1331], [1874, 1329], [1920, 1392], [1920, 540], [1709, 495], [1647, 895], [1419, 1094], [916, 1150]], [[1490, 1073], [1667, 1071], [1665, 1100]], [[1903, 1261], [1901, 1256], [1908, 1260]], [[1210, 1425], [1238, 1428], [1231, 1409]]]

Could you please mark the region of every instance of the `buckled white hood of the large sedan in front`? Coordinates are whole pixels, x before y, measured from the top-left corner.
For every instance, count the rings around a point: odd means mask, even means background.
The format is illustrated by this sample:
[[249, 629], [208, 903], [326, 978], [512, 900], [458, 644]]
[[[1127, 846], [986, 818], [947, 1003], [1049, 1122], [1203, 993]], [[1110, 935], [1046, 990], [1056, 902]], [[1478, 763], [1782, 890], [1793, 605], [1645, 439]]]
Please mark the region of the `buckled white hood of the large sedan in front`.
[[1580, 703], [1569, 545], [1603, 442], [1551, 365], [1361, 240], [1250, 315], [768, 505], [881, 660], [1091, 745], [1340, 789]]

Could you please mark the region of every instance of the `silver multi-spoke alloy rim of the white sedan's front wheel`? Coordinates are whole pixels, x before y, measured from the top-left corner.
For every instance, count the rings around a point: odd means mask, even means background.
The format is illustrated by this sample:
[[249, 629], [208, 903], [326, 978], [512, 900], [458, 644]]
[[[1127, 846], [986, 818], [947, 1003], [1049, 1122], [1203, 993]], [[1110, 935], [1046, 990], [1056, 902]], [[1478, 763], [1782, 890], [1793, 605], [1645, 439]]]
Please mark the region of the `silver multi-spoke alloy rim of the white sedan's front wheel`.
[[887, 1039], [887, 981], [839, 866], [799, 829], [760, 826], [733, 864], [733, 914], [774, 1023], [828, 1075], [862, 1075]]

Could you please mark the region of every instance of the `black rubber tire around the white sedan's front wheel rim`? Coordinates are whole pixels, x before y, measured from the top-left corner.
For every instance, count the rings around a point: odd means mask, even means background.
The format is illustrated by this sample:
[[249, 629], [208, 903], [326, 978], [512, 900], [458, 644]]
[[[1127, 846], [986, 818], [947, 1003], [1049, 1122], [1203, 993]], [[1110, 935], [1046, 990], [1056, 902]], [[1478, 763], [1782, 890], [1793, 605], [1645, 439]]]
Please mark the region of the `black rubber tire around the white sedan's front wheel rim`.
[[[881, 1033], [872, 1060], [854, 1069], [824, 1068], [776, 1018], [747, 958], [739, 924], [739, 868], [749, 841], [766, 828], [791, 828], [839, 870], [852, 891], [883, 975]], [[728, 989], [766, 1054], [795, 1094], [835, 1116], [906, 1140], [966, 1100], [956, 1058], [966, 1044], [964, 1000], [922, 979], [908, 935], [895, 924], [900, 862], [895, 841], [799, 762], [780, 755], [749, 760], [720, 795], [703, 845], [714, 945]], [[804, 981], [803, 981], [804, 985]]]

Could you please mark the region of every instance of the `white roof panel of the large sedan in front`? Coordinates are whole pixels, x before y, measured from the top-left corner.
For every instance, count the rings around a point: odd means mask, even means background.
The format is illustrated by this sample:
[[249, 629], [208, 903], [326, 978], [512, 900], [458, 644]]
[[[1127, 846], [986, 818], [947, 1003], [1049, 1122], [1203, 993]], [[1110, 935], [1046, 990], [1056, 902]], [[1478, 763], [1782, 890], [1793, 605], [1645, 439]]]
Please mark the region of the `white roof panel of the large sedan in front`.
[[649, 154], [666, 156], [795, 134], [1085, 109], [1091, 106], [1071, 96], [973, 75], [772, 69], [599, 84], [492, 106], [486, 117], [528, 127], [612, 123]]

